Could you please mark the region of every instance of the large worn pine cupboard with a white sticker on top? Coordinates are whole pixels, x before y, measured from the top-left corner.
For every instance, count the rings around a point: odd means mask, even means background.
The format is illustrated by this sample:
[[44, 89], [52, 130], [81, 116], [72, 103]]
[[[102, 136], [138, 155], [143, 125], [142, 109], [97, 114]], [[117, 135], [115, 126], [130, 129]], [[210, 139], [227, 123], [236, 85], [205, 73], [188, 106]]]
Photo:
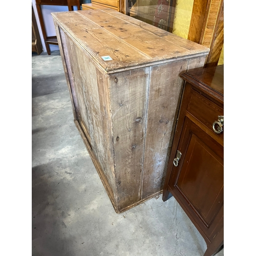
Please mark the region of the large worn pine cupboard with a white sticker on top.
[[161, 194], [179, 74], [209, 49], [113, 9], [52, 16], [74, 121], [116, 212]]

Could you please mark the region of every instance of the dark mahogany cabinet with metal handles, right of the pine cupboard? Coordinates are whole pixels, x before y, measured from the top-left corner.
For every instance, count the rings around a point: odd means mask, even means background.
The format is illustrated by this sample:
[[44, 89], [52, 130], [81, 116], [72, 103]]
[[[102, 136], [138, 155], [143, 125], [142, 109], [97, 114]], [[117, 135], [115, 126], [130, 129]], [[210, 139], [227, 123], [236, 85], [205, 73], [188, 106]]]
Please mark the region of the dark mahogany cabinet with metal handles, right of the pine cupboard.
[[172, 193], [205, 239], [204, 256], [223, 245], [223, 71], [180, 75], [185, 88], [163, 188], [163, 201]]

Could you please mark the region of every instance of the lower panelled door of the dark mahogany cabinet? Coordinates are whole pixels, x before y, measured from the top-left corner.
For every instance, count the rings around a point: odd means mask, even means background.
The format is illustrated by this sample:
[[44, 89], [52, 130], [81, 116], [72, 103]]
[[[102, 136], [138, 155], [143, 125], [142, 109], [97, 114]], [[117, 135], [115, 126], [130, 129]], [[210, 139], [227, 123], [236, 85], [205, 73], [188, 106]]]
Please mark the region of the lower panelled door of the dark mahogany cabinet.
[[182, 156], [169, 186], [211, 238], [223, 211], [223, 146], [185, 118], [178, 149]]

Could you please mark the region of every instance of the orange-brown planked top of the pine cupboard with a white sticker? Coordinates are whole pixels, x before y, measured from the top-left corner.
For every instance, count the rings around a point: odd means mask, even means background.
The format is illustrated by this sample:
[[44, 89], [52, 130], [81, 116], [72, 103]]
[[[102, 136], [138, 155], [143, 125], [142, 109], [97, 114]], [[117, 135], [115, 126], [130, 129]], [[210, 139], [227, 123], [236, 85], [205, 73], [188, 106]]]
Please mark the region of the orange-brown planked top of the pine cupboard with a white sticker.
[[[195, 42], [112, 9], [55, 12], [52, 16], [79, 48], [108, 74], [209, 52]], [[112, 60], [108, 60], [109, 57]]]

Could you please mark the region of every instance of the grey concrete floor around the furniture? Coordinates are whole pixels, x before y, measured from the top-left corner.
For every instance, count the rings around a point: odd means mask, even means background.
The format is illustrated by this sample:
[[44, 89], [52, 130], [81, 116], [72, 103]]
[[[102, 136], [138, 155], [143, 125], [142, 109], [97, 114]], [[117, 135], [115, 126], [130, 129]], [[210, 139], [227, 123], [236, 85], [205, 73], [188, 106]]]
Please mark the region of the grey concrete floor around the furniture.
[[73, 122], [59, 51], [32, 53], [32, 255], [200, 256], [205, 250], [174, 197], [116, 214]]

